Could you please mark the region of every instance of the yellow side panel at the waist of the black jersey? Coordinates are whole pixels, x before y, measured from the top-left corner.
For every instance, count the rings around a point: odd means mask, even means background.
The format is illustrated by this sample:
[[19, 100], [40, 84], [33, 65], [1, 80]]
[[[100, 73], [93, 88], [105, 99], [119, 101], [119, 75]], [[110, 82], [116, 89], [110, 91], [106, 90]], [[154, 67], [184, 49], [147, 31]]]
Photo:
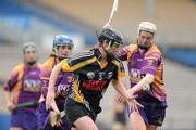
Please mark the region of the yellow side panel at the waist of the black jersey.
[[75, 79], [75, 80], [73, 81], [73, 84], [74, 84], [73, 91], [74, 91], [74, 94], [75, 94], [74, 100], [75, 100], [76, 102], [79, 102], [79, 103], [83, 103], [83, 104], [84, 104], [84, 100], [83, 100], [83, 98], [79, 95], [78, 80]]

